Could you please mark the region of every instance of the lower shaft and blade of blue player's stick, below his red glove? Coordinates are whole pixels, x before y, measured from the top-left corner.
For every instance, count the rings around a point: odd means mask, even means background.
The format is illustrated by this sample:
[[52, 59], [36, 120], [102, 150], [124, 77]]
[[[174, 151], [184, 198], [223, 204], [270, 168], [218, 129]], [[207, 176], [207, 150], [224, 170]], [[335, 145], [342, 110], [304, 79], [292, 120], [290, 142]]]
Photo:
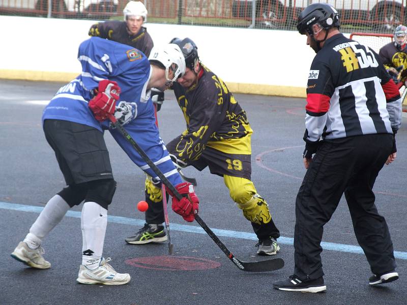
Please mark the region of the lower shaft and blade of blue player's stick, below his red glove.
[[215, 241], [216, 245], [223, 251], [224, 254], [234, 263], [240, 270], [249, 272], [265, 272], [274, 271], [284, 267], [284, 260], [281, 258], [274, 258], [257, 262], [244, 262], [237, 259], [233, 253], [231, 253], [218, 236], [207, 226], [207, 224], [200, 218], [199, 215], [195, 215], [196, 222], [202, 227], [205, 232]]

